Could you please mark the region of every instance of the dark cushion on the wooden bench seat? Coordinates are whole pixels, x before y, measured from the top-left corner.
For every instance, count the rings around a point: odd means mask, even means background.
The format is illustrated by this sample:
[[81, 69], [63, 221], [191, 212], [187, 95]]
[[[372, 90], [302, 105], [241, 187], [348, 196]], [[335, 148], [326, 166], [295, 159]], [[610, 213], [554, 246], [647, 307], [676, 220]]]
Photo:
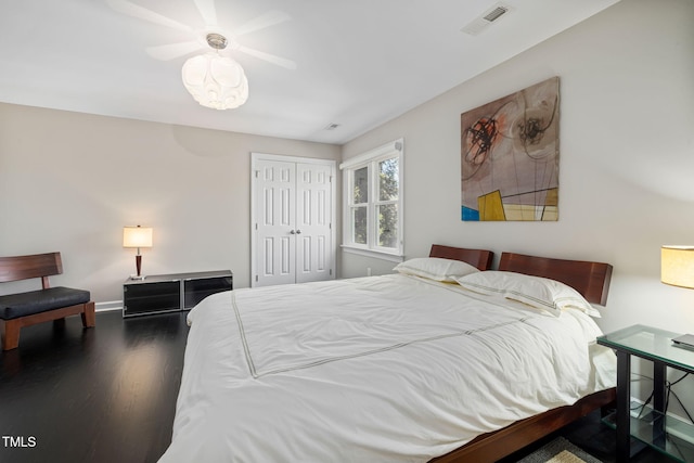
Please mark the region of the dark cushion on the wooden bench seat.
[[49, 287], [48, 290], [0, 296], [0, 319], [12, 320], [47, 310], [89, 303], [88, 291], [70, 287]]

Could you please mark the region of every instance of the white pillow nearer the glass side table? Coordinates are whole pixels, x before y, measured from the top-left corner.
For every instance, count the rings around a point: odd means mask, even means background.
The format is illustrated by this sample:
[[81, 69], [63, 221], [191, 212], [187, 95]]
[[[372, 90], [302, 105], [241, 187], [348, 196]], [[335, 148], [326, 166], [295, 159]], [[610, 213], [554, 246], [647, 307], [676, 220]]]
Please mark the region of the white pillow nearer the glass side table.
[[564, 309], [578, 309], [591, 317], [600, 312], [576, 290], [556, 280], [523, 273], [489, 270], [455, 279], [458, 284], [475, 293], [500, 295], [518, 300], [558, 317]]

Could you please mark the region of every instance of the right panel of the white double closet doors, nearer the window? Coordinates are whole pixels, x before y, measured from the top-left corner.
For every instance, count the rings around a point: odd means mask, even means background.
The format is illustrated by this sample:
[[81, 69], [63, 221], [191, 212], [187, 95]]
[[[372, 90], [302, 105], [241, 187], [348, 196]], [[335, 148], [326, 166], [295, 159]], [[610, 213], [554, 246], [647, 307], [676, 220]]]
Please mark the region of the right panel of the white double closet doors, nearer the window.
[[332, 169], [296, 165], [296, 282], [332, 278]]

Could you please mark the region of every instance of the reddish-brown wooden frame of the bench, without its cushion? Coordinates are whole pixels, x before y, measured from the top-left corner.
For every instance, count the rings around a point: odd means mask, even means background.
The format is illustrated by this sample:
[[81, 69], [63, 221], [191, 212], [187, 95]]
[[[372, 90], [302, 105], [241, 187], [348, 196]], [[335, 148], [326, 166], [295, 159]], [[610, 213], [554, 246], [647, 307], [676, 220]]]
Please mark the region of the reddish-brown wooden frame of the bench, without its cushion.
[[[63, 273], [63, 261], [60, 253], [0, 257], [0, 283], [40, 278], [42, 288], [48, 290], [51, 287], [49, 276], [60, 273]], [[18, 347], [20, 331], [24, 326], [62, 320], [65, 317], [78, 313], [81, 316], [82, 326], [91, 327], [97, 325], [94, 303], [91, 300], [15, 319], [0, 319], [0, 324], [2, 324], [2, 350], [11, 350]]]

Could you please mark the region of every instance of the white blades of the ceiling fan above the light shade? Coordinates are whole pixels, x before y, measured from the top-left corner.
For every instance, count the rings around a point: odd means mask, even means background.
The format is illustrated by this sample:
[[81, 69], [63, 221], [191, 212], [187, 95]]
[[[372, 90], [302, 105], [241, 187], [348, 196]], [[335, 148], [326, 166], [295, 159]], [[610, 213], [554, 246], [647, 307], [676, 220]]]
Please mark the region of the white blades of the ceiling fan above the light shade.
[[224, 48], [227, 50], [245, 53], [250, 56], [255, 56], [278, 66], [284, 67], [286, 69], [296, 69], [296, 63], [292, 60], [244, 47], [235, 40], [236, 37], [243, 36], [245, 34], [260, 30], [275, 24], [284, 23], [285, 21], [291, 20], [288, 14], [277, 10], [269, 11], [243, 24], [235, 30], [235, 34], [232, 35], [218, 25], [215, 0], [193, 0], [193, 2], [195, 3], [195, 7], [197, 7], [197, 11], [205, 22], [205, 27], [203, 27], [202, 29], [195, 29], [191, 26], [188, 26], [176, 20], [171, 20], [170, 17], [164, 16], [144, 7], [140, 7], [139, 4], [136, 4], [129, 0], [106, 0], [106, 3], [114, 11], [126, 14], [128, 16], [144, 20], [153, 24], [178, 29], [191, 36], [191, 40], [189, 41], [147, 47], [145, 51], [156, 60], [169, 61], [180, 56], [184, 56], [187, 54], [198, 52], [201, 50], [208, 50], [208, 36], [210, 34], [214, 34], [216, 36], [221, 36], [226, 40]]

